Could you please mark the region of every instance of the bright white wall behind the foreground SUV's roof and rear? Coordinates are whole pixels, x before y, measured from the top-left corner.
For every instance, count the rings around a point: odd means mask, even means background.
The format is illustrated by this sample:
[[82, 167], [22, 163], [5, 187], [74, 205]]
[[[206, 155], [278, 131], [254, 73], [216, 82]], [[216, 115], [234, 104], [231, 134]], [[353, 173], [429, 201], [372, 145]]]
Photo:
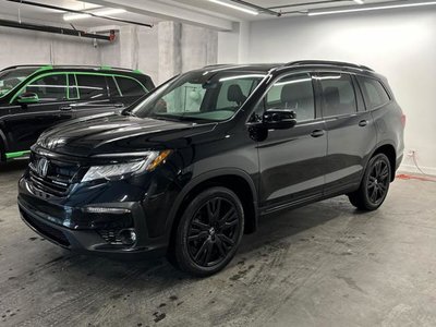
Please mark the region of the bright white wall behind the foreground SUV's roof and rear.
[[[219, 37], [219, 62], [234, 48], [227, 35]], [[252, 22], [249, 35], [241, 63], [343, 60], [386, 75], [407, 114], [405, 154], [416, 150], [423, 170], [436, 174], [436, 10], [282, 17]], [[416, 171], [408, 156], [402, 169]]]

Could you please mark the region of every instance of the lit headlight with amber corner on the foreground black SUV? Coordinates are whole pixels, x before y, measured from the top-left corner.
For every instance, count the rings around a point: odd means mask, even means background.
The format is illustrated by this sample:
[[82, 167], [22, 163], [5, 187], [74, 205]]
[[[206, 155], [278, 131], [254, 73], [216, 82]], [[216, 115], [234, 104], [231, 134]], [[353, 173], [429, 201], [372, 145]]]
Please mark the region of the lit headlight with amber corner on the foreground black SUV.
[[[142, 153], [144, 159], [132, 162], [105, 165], [105, 166], [93, 166], [88, 169], [86, 174], [83, 177], [82, 182], [89, 182], [94, 180], [111, 180], [120, 179], [125, 175], [132, 175], [144, 171], [152, 171], [171, 154], [171, 150], [164, 152], [146, 152]], [[111, 155], [105, 155], [110, 158]], [[101, 157], [101, 156], [99, 156]], [[120, 154], [113, 155], [113, 157], [120, 157]]]

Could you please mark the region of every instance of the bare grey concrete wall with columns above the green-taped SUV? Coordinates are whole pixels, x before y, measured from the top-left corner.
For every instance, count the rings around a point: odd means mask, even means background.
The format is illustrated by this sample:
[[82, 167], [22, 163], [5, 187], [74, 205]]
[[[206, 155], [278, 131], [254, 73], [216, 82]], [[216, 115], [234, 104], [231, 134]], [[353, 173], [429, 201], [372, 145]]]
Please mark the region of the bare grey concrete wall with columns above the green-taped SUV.
[[174, 74], [217, 62], [218, 33], [161, 22], [121, 26], [114, 43], [0, 27], [0, 69], [28, 63], [96, 64], [138, 69], [160, 84]]

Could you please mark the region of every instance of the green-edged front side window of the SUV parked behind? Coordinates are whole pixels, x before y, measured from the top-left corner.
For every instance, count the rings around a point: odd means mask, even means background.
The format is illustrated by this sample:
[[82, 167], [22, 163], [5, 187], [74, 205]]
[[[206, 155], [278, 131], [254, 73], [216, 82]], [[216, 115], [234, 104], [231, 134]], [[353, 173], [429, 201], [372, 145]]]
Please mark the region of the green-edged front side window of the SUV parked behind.
[[28, 84], [24, 92], [33, 92], [43, 101], [66, 99], [66, 76], [64, 74], [48, 75]]

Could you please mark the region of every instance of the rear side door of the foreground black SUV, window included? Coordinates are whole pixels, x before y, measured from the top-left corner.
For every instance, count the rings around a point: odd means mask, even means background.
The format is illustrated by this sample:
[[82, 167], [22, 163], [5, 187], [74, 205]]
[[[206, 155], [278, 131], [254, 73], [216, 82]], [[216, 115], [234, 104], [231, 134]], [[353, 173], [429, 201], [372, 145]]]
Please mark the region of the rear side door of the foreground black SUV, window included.
[[376, 131], [354, 75], [320, 72], [315, 80], [328, 133], [325, 193], [331, 194], [360, 183]]

